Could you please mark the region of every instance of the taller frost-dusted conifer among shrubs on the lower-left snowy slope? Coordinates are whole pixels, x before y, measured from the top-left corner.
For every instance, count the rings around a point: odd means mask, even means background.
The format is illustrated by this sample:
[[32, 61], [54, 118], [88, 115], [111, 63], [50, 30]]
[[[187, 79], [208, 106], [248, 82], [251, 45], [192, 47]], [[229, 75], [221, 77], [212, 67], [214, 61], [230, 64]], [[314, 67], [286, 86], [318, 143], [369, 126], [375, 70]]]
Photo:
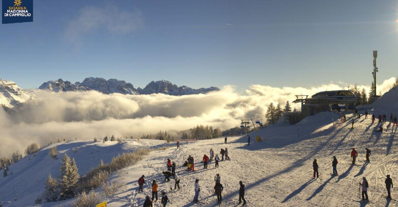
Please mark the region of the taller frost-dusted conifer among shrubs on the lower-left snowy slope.
[[76, 186], [77, 181], [79, 180], [79, 173], [76, 166], [75, 159], [71, 158], [65, 154], [62, 165], [60, 167], [61, 170], [61, 191], [63, 194], [63, 198], [67, 199], [73, 196], [73, 190]]

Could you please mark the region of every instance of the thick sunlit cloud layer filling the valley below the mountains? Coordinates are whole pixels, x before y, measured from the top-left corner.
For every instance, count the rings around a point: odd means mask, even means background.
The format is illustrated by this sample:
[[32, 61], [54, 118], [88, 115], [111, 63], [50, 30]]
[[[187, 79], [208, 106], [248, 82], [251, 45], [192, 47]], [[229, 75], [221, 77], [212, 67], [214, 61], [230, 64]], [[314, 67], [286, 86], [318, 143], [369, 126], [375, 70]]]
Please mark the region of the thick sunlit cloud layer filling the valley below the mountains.
[[[388, 91], [395, 79], [378, 86]], [[312, 88], [252, 85], [245, 94], [232, 86], [208, 94], [171, 96], [165, 94], [123, 95], [96, 91], [50, 93], [40, 91], [38, 98], [15, 113], [0, 110], [2, 145], [0, 156], [23, 151], [32, 142], [40, 145], [77, 137], [102, 138], [105, 135], [134, 136], [159, 130], [184, 130], [196, 125], [228, 129], [239, 126], [240, 119], [264, 120], [269, 103], [291, 102], [294, 95], [312, 95], [324, 90], [347, 89], [347, 84], [327, 84]], [[369, 93], [369, 86], [365, 88]], [[299, 110], [299, 104], [292, 105]]]

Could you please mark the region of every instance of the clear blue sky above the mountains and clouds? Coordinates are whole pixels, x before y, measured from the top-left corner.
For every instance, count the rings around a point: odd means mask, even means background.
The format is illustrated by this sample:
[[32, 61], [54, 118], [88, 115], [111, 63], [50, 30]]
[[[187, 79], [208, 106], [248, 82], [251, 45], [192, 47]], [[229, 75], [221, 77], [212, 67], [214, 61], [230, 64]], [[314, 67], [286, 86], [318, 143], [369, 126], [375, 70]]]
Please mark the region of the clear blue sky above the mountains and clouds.
[[34, 22], [0, 25], [0, 77], [368, 85], [373, 50], [379, 83], [398, 76], [397, 19], [396, 1], [34, 1]]

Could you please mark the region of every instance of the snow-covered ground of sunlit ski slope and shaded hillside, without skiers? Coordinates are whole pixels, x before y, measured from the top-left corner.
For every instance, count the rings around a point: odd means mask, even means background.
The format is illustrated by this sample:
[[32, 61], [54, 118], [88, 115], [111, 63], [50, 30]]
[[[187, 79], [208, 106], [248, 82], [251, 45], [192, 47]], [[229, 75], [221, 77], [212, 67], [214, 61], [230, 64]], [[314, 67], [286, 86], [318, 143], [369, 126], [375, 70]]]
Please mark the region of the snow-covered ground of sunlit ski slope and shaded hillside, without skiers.
[[[392, 95], [391, 95], [392, 97]], [[398, 97], [398, 96], [394, 96]], [[397, 115], [395, 108], [382, 108], [382, 104], [370, 113]], [[387, 103], [385, 103], [387, 104]], [[395, 111], [390, 111], [395, 110]], [[359, 111], [363, 114], [364, 111]], [[385, 131], [375, 132], [379, 126], [377, 120], [372, 123], [364, 119], [354, 118], [352, 112], [347, 112], [347, 122], [340, 121], [340, 115], [334, 112], [322, 112], [307, 117], [296, 125], [278, 123], [251, 133], [252, 143], [247, 145], [247, 137], [228, 137], [185, 143], [176, 149], [171, 145], [168, 150], [153, 151], [136, 165], [122, 170], [126, 179], [126, 189], [121, 193], [107, 197], [108, 206], [142, 206], [146, 195], [150, 194], [151, 180], [157, 179], [159, 191], [168, 193], [168, 206], [217, 206], [217, 198], [213, 194], [215, 184], [213, 177], [219, 173], [224, 185], [223, 206], [236, 206], [238, 203], [239, 181], [246, 185], [247, 206], [398, 206], [398, 201], [386, 200], [385, 176], [391, 175], [393, 182], [398, 178], [398, 148], [396, 145], [396, 127], [392, 123], [383, 123]], [[351, 129], [351, 120], [354, 128]], [[387, 118], [389, 120], [389, 117]], [[260, 135], [262, 142], [256, 142]], [[109, 144], [108, 144], [109, 143]], [[103, 159], [108, 163], [112, 156], [122, 151], [133, 151], [141, 147], [165, 146], [164, 141], [142, 140], [128, 141], [126, 144], [92, 143], [92, 141], [72, 141], [57, 144], [61, 153], [68, 153], [76, 159], [79, 173], [83, 175], [91, 167]], [[51, 146], [49, 146], [51, 147]], [[79, 150], [74, 153], [72, 148]], [[200, 163], [204, 154], [212, 148], [220, 154], [221, 148], [228, 148], [231, 160], [221, 161], [215, 168], [214, 162], [208, 169], [203, 169]], [[351, 165], [351, 148], [356, 148], [358, 158], [356, 165]], [[365, 148], [372, 150], [371, 162], [365, 163]], [[81, 150], [80, 150], [81, 149]], [[195, 158], [195, 172], [182, 167], [183, 162], [191, 155]], [[62, 157], [63, 155], [59, 155]], [[339, 176], [332, 176], [332, 156], [339, 160]], [[30, 158], [30, 160], [29, 160]], [[174, 188], [174, 181], [164, 182], [161, 174], [166, 170], [167, 158], [177, 164], [182, 187]], [[320, 177], [312, 179], [312, 162], [318, 160]], [[34, 205], [34, 200], [44, 190], [44, 182], [49, 172], [59, 175], [60, 159], [54, 160], [48, 155], [48, 148], [10, 166], [13, 175], [0, 180], [0, 200], [11, 201], [5, 206]], [[2, 171], [0, 171], [2, 172]], [[137, 180], [145, 175], [147, 181], [144, 193], [136, 193]], [[113, 176], [115, 178], [117, 176]], [[369, 182], [369, 199], [371, 203], [358, 202], [359, 182], [366, 177]], [[115, 178], [116, 179], [116, 178]], [[193, 203], [194, 182], [199, 179], [201, 193], [199, 203]], [[14, 197], [17, 198], [14, 201]], [[392, 197], [398, 193], [392, 189]], [[159, 199], [161, 195], [159, 193]], [[73, 200], [45, 203], [42, 206], [70, 206]], [[160, 206], [160, 202], [156, 206]]]

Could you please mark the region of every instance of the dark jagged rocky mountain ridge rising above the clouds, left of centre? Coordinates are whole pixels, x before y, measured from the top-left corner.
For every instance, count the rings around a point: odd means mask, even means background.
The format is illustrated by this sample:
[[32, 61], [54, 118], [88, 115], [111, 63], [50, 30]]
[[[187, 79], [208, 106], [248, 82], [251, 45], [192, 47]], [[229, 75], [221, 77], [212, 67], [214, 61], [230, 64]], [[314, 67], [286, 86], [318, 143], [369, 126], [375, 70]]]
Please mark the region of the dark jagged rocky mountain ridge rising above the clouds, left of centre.
[[43, 83], [39, 89], [50, 90], [54, 92], [61, 91], [89, 91], [95, 90], [101, 93], [121, 93], [121, 94], [152, 94], [152, 93], [164, 93], [169, 95], [190, 95], [208, 93], [211, 91], [219, 91], [217, 87], [210, 88], [199, 88], [193, 89], [188, 86], [178, 87], [169, 81], [152, 81], [145, 88], [135, 89], [133, 84], [127, 83], [126, 81], [119, 81], [117, 79], [105, 80], [103, 78], [89, 77], [84, 79], [83, 82], [71, 83], [70, 81], [64, 81], [58, 79], [56, 81], [47, 81]]

